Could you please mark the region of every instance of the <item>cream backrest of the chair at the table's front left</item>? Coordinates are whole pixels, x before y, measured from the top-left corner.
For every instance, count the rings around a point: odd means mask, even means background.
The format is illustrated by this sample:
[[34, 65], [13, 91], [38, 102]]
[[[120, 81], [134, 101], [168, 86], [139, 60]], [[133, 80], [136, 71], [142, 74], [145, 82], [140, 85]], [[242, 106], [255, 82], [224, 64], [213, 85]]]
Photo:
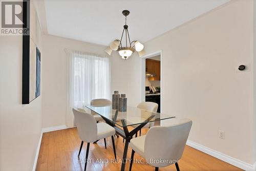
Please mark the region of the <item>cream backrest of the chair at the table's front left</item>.
[[94, 142], [97, 140], [97, 123], [93, 115], [73, 109], [75, 122], [80, 139], [86, 142]]

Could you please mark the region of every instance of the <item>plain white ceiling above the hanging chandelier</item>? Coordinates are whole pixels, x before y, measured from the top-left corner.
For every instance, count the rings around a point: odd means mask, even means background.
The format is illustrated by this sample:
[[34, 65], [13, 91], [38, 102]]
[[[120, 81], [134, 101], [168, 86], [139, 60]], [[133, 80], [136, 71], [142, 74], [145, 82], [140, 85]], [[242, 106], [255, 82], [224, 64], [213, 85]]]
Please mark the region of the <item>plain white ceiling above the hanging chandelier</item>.
[[48, 33], [100, 45], [120, 39], [124, 16], [131, 40], [145, 42], [229, 0], [45, 0]]

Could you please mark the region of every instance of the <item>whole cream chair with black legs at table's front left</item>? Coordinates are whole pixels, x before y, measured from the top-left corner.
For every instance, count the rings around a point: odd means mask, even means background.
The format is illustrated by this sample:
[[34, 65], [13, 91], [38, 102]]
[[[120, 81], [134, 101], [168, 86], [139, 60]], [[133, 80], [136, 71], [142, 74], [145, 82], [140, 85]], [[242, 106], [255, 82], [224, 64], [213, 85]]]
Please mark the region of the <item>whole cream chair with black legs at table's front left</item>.
[[83, 142], [87, 142], [87, 151], [86, 151], [86, 160], [84, 164], [84, 170], [86, 170], [86, 166], [87, 166], [90, 143], [95, 142], [99, 139], [103, 139], [103, 138], [105, 139], [106, 137], [111, 136], [114, 155], [116, 159], [116, 149], [115, 149], [115, 141], [114, 141], [114, 135], [116, 133], [115, 129], [105, 122], [96, 123], [95, 118], [90, 113], [82, 112], [82, 111], [79, 111], [78, 109], [73, 108], [73, 114], [76, 121], [78, 135], [82, 140], [78, 157], [81, 153]]

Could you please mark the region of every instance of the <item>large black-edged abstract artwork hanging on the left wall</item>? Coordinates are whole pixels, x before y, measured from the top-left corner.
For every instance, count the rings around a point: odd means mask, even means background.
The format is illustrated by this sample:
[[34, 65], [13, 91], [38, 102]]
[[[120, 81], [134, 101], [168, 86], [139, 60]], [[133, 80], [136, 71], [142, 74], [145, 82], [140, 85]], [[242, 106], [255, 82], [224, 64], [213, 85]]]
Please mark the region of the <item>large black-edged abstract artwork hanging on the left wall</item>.
[[22, 104], [40, 96], [41, 78], [41, 29], [33, 1], [27, 2], [29, 6], [24, 12], [29, 13], [29, 34], [23, 35]]

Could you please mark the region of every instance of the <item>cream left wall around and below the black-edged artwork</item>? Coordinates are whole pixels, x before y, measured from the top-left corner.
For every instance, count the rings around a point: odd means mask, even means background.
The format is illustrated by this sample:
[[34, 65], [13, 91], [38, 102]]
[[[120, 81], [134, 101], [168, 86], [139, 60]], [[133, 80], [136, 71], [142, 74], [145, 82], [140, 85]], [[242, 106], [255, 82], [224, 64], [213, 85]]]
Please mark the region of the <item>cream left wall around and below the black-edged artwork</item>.
[[0, 37], [0, 170], [32, 170], [41, 96], [22, 105], [22, 36]]

